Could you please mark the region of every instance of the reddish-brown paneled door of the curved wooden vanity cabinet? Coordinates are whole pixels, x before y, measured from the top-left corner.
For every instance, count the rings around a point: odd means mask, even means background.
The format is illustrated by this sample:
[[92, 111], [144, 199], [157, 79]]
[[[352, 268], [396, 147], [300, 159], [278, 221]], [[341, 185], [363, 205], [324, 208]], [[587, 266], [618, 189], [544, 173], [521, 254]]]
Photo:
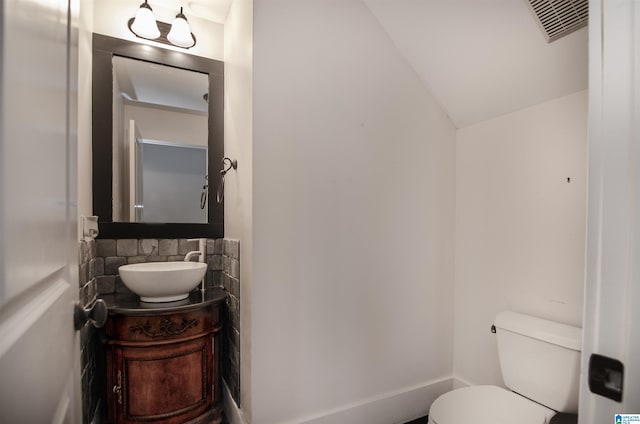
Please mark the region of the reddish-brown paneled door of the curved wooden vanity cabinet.
[[155, 346], [112, 345], [110, 350], [110, 422], [177, 424], [211, 408], [211, 334]]

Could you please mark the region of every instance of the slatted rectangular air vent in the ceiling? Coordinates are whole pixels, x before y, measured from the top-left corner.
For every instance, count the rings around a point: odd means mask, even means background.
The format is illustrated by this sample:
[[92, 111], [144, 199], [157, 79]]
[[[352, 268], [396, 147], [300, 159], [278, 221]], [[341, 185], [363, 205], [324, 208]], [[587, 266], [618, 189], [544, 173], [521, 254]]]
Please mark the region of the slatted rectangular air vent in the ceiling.
[[587, 25], [588, 0], [526, 1], [549, 43]]

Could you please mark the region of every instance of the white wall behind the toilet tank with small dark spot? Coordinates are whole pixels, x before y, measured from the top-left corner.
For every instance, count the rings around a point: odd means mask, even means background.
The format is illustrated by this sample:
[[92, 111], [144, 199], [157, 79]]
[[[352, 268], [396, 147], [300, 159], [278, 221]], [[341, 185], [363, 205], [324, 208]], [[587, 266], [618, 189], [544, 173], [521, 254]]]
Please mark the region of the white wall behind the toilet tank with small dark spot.
[[[458, 130], [454, 374], [499, 384], [498, 312], [582, 323], [587, 93]], [[571, 182], [567, 182], [571, 178]]]

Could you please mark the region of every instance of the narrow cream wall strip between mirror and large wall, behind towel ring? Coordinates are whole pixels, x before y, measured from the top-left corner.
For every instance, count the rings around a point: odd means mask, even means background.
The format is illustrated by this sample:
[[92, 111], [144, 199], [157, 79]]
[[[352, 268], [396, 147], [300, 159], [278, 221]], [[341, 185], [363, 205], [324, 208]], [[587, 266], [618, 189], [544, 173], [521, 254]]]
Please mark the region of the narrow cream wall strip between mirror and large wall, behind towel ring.
[[[227, 407], [232, 424], [251, 422], [252, 78], [253, 0], [234, 0], [224, 24], [224, 151], [238, 161], [225, 177], [224, 234], [240, 240], [240, 408]], [[245, 306], [247, 305], [247, 306]], [[255, 421], [257, 422], [257, 421]]]

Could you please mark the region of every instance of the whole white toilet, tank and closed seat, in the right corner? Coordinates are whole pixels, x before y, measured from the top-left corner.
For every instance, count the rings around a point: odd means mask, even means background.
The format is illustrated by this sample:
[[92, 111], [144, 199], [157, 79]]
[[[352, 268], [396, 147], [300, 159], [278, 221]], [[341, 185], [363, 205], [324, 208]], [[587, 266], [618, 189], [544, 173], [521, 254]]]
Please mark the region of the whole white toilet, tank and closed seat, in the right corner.
[[[504, 384], [445, 393], [429, 424], [548, 424], [558, 412], [578, 412], [582, 329], [516, 312], [495, 320]], [[482, 364], [478, 364], [482, 366]]]

